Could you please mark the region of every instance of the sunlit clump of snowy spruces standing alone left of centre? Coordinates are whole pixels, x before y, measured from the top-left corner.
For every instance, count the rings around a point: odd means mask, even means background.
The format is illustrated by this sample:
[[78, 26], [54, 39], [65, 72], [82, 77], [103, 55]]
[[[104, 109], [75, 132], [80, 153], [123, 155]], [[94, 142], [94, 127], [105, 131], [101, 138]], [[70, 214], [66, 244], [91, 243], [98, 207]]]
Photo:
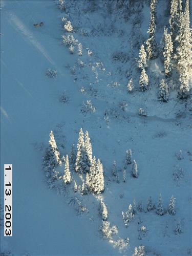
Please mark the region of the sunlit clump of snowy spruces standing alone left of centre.
[[[51, 131], [49, 148], [46, 151], [44, 162], [47, 176], [52, 179], [62, 179], [65, 184], [69, 184], [72, 181], [70, 169], [75, 170], [79, 175], [84, 174], [85, 179], [81, 186], [82, 195], [87, 194], [88, 191], [100, 194], [104, 190], [103, 166], [99, 159], [96, 161], [95, 157], [92, 158], [92, 144], [87, 131], [84, 135], [82, 129], [80, 129], [77, 153], [75, 154], [73, 145], [70, 159], [68, 155], [60, 157], [53, 132]], [[65, 168], [64, 175], [61, 177], [56, 168], [61, 166], [63, 162], [65, 162]], [[74, 181], [74, 191], [76, 192], [77, 190], [78, 187]]]

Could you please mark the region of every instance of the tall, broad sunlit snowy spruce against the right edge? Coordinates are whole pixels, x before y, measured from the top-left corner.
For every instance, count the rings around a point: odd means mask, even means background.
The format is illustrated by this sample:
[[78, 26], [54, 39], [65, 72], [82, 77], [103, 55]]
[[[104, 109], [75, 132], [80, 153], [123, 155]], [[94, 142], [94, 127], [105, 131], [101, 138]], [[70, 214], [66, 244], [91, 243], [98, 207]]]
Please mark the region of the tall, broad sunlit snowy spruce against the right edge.
[[179, 35], [176, 37], [179, 44], [176, 50], [181, 98], [187, 98], [190, 91], [189, 73], [191, 72], [192, 67], [192, 39], [189, 25], [189, 2], [186, 0], [185, 11], [180, 15]]

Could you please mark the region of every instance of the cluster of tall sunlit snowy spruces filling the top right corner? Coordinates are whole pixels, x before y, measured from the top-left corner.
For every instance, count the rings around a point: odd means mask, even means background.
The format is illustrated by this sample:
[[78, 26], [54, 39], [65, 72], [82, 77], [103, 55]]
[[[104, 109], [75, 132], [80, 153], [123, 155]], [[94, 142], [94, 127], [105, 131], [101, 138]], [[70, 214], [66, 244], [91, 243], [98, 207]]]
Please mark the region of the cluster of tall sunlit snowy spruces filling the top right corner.
[[[141, 91], [148, 87], [148, 76], [145, 72], [147, 62], [157, 57], [156, 32], [156, 5], [157, 0], [151, 0], [150, 27], [148, 39], [139, 51], [138, 67], [141, 69], [139, 84]], [[169, 26], [164, 28], [162, 54], [164, 62], [164, 79], [160, 81], [159, 98], [167, 102], [169, 97], [168, 78], [175, 69], [179, 75], [180, 97], [189, 95], [189, 76], [192, 70], [192, 39], [189, 20], [189, 0], [171, 0]], [[128, 88], [129, 90], [129, 88]]]

